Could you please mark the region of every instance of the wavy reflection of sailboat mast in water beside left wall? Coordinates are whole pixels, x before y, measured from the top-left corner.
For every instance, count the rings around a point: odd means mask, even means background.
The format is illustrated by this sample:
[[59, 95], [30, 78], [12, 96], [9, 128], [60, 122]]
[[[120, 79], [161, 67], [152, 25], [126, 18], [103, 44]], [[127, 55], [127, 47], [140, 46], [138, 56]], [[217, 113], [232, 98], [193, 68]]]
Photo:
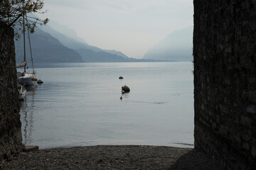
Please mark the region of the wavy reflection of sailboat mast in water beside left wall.
[[21, 129], [23, 144], [27, 145], [33, 141], [33, 114], [34, 114], [34, 96], [36, 86], [26, 86], [26, 96], [19, 102], [21, 115]]

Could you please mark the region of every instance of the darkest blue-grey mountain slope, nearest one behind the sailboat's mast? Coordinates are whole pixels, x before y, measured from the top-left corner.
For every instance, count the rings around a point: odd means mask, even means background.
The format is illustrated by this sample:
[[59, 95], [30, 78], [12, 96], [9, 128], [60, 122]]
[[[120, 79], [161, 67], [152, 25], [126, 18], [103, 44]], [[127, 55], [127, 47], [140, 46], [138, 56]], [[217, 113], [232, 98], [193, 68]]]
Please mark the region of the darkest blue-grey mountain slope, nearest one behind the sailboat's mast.
[[[36, 33], [31, 35], [31, 47], [33, 53], [33, 62], [82, 62], [82, 57], [75, 50], [65, 47], [59, 40], [53, 38], [50, 34], [40, 28], [36, 28]], [[28, 49], [28, 40], [26, 40], [26, 49]], [[16, 62], [23, 61], [23, 35], [16, 41]], [[27, 52], [27, 61], [31, 61], [29, 50]]]

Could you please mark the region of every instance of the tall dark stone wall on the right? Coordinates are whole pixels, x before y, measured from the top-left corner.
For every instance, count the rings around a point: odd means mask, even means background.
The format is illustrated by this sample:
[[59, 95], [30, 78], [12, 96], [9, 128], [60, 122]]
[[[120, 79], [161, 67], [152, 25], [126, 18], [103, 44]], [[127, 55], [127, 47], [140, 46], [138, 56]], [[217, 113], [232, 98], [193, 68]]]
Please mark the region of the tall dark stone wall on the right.
[[195, 149], [256, 169], [256, 1], [193, 3]]

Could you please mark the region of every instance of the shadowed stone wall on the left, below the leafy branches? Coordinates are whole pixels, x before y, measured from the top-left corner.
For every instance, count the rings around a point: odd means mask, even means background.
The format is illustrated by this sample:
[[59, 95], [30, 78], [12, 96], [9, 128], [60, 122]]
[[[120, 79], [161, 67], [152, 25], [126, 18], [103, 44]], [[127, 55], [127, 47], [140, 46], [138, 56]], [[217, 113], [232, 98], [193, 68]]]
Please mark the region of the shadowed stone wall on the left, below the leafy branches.
[[21, 140], [14, 30], [0, 21], [0, 168], [23, 149]]

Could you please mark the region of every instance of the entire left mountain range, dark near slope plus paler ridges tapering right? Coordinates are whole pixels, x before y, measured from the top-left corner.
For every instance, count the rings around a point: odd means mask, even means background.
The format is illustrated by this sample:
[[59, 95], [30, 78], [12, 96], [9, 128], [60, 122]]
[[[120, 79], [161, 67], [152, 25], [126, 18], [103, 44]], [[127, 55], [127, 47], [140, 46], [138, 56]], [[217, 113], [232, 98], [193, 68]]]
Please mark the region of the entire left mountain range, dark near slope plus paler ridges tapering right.
[[[58, 28], [63, 26], [58, 25]], [[33, 52], [33, 62], [154, 62], [154, 60], [137, 60], [129, 58], [122, 52], [116, 50], [102, 50], [99, 47], [88, 45], [85, 40], [78, 38], [75, 30], [64, 26], [63, 33], [42, 26], [36, 28], [35, 33], [31, 35], [31, 46]], [[74, 36], [74, 38], [72, 38]], [[23, 61], [23, 37], [15, 41], [16, 62]], [[28, 43], [26, 44], [28, 47]], [[27, 51], [27, 61], [30, 63], [29, 51]]]

